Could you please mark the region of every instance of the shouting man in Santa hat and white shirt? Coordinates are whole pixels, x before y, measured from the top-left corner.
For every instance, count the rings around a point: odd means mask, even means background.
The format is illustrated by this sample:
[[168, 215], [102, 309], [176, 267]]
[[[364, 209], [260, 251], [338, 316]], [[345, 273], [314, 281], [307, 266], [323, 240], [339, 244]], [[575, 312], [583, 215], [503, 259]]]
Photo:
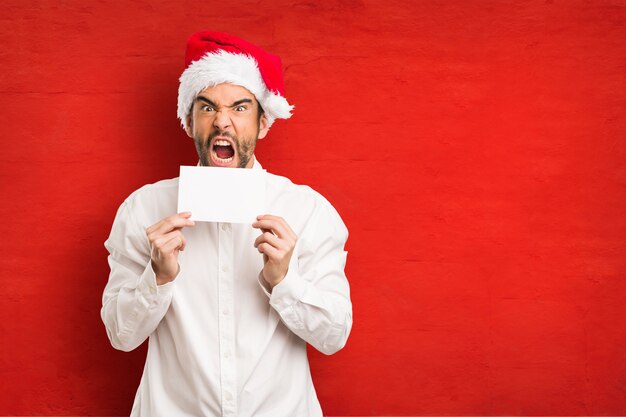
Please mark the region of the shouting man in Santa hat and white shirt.
[[[292, 108], [278, 57], [222, 33], [189, 39], [178, 116], [200, 165], [261, 169], [257, 139]], [[115, 348], [149, 339], [132, 416], [322, 415], [306, 343], [332, 354], [350, 333], [348, 231], [320, 194], [267, 177], [269, 214], [251, 225], [176, 213], [178, 179], [120, 206], [101, 313]]]

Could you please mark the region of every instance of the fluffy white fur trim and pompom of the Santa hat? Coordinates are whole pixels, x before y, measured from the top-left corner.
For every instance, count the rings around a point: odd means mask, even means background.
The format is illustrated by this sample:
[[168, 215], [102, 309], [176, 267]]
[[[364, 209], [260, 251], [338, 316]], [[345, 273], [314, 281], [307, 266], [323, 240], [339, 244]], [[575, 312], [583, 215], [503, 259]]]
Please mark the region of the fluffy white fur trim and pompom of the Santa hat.
[[254, 94], [265, 111], [269, 126], [275, 119], [291, 117], [294, 106], [284, 97], [267, 89], [254, 58], [245, 54], [218, 51], [209, 52], [192, 62], [180, 76], [178, 118], [183, 128], [188, 127], [187, 116], [198, 94], [207, 87], [221, 83], [240, 85]]

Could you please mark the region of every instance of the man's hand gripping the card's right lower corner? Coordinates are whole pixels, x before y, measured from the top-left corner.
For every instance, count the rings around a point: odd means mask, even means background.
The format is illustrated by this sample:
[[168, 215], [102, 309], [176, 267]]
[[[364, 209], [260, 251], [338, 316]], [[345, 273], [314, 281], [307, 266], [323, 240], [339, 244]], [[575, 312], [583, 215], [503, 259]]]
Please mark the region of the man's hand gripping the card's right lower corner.
[[263, 279], [274, 288], [287, 275], [298, 236], [285, 219], [269, 214], [258, 216], [252, 227], [263, 232], [254, 241], [254, 247], [263, 254]]

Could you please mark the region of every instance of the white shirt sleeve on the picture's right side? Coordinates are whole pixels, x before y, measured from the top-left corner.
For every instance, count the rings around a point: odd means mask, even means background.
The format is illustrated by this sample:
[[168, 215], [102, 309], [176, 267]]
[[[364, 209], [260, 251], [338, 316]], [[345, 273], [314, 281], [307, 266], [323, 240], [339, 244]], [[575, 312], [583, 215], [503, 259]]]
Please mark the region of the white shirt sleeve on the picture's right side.
[[298, 237], [283, 280], [269, 296], [283, 323], [320, 352], [343, 348], [352, 328], [350, 286], [344, 273], [348, 230], [329, 203], [320, 204]]

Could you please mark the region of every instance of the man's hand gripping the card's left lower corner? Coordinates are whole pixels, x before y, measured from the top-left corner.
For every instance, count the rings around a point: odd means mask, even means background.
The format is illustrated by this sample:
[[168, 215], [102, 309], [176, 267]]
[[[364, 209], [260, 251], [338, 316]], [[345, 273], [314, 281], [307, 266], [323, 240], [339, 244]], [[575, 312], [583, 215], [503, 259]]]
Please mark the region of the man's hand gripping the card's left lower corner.
[[183, 227], [193, 226], [190, 212], [174, 214], [146, 229], [150, 241], [150, 259], [157, 285], [174, 281], [178, 275], [178, 252], [185, 250]]

